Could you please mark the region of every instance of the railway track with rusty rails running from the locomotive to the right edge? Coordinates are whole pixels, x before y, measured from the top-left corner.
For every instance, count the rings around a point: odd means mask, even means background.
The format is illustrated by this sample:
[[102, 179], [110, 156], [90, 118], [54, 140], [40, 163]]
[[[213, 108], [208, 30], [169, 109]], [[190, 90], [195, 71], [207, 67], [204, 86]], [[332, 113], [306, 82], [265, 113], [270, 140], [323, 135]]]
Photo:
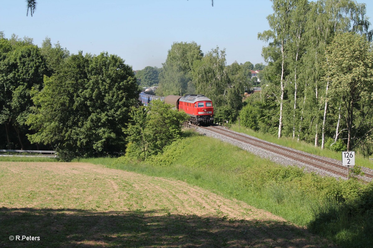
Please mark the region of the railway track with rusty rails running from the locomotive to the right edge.
[[[330, 173], [337, 174], [341, 177], [347, 178], [347, 167], [336, 164], [330, 161], [322, 160], [320, 158], [315, 158], [310, 155], [304, 154], [302, 152], [297, 152], [292, 149], [284, 148], [279, 145], [274, 145], [266, 141], [261, 141], [258, 139], [250, 138], [246, 135], [241, 135], [236, 132], [232, 132], [228, 129], [221, 128], [218, 126], [200, 126], [199, 128], [207, 129], [209, 131], [219, 133], [220, 135], [227, 136], [229, 138], [244, 142], [246, 144], [250, 144], [253, 146], [256, 146], [261, 149], [265, 149], [270, 152], [274, 152], [276, 154], [279, 154], [281, 156], [291, 158], [293, 160], [297, 160], [300, 162], [303, 162], [305, 164], [329, 171]], [[359, 180], [370, 182], [373, 180], [373, 175], [365, 173], [364, 176], [357, 176]]]

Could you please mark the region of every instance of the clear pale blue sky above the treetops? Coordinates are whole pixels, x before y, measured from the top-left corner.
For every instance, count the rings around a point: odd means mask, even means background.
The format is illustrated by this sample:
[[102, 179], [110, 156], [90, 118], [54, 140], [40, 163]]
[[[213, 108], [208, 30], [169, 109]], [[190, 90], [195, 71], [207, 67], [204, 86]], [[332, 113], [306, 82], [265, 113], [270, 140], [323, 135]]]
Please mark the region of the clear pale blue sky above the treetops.
[[[371, 0], [367, 16], [373, 16]], [[203, 52], [226, 49], [227, 64], [264, 62], [258, 32], [269, 29], [269, 0], [37, 0], [26, 16], [24, 0], [2, 1], [0, 31], [28, 36], [34, 44], [48, 36], [76, 54], [107, 51], [134, 70], [162, 67], [173, 42], [195, 41]], [[370, 20], [373, 22], [373, 19]]]

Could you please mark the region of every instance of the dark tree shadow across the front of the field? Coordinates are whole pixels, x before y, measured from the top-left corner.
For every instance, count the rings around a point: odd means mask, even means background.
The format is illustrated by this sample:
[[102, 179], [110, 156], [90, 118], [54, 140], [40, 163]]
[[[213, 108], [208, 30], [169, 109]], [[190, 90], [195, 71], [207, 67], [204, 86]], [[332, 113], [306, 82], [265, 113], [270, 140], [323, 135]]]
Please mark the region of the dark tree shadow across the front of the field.
[[[3, 207], [0, 247], [326, 247], [283, 222], [156, 215]], [[10, 241], [10, 235], [39, 236], [40, 241]]]

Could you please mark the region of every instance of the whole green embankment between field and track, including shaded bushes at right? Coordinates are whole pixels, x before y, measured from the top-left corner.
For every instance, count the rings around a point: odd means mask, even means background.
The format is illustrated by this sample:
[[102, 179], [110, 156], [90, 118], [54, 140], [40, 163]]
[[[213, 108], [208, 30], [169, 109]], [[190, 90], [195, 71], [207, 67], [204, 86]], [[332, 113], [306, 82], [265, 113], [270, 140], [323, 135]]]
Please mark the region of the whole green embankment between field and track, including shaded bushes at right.
[[307, 173], [207, 135], [192, 135], [145, 162], [113, 168], [175, 178], [278, 215], [340, 247], [372, 247], [372, 184]]

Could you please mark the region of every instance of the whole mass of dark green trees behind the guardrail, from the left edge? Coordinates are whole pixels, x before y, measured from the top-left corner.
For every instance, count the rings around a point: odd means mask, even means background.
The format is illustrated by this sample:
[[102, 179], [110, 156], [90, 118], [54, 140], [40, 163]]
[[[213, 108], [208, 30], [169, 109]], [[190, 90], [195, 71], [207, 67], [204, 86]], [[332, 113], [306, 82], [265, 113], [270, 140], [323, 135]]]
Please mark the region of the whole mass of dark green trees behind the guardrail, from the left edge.
[[63, 160], [125, 151], [122, 127], [139, 91], [118, 56], [0, 33], [0, 82], [1, 149], [56, 149]]

